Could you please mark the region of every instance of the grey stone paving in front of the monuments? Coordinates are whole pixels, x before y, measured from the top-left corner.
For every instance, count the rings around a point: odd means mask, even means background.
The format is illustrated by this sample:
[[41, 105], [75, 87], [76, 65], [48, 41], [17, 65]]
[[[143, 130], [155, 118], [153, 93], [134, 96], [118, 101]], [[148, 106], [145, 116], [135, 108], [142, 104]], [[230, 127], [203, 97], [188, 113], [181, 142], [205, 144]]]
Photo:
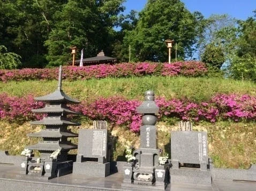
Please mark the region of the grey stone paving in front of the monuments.
[[[32, 178], [17, 177], [17, 166], [0, 164], [0, 190], [138, 190], [145, 191], [148, 189], [138, 189], [125, 187], [122, 188], [122, 173], [111, 174], [106, 178], [94, 178], [87, 176], [78, 176], [68, 174], [63, 177], [51, 180], [39, 180]], [[152, 189], [153, 190], [153, 189]], [[171, 191], [255, 191], [256, 182], [245, 181], [224, 181], [214, 180], [212, 186], [194, 186], [184, 184], [172, 184], [165, 190]]]

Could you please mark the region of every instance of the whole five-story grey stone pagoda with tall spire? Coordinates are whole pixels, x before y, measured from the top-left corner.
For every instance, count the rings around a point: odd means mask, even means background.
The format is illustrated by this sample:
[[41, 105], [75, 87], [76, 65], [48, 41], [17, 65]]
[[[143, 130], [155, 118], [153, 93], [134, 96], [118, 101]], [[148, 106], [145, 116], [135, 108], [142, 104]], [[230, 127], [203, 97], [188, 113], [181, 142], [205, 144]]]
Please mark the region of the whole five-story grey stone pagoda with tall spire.
[[[80, 123], [71, 122], [67, 115], [77, 115], [79, 113], [72, 111], [66, 104], [79, 104], [80, 101], [74, 100], [62, 91], [62, 66], [59, 67], [57, 90], [48, 95], [35, 98], [36, 101], [46, 102], [46, 106], [40, 109], [32, 109], [34, 113], [44, 113], [40, 121], [31, 122], [32, 125], [46, 126], [40, 132], [30, 133], [29, 137], [42, 137], [36, 145], [28, 146], [27, 149], [39, 150], [41, 153], [40, 163], [32, 160], [28, 162], [28, 175], [35, 175], [51, 179], [72, 172], [73, 161], [67, 160], [67, 152], [70, 149], [76, 149], [77, 145], [72, 144], [67, 138], [78, 137], [78, 134], [67, 130], [69, 125], [80, 125]], [[56, 159], [50, 158], [55, 150], [61, 150]], [[37, 171], [40, 172], [38, 173]]]

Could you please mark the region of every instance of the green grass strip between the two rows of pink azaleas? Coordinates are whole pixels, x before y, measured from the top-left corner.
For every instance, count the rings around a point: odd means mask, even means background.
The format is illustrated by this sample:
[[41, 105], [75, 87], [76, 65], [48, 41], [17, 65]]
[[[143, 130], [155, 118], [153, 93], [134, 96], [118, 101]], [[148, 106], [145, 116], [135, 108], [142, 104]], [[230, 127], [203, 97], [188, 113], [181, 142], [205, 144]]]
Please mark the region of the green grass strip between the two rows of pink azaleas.
[[[147, 76], [64, 81], [63, 83], [63, 91], [78, 100], [94, 100], [97, 97], [110, 97], [112, 95], [122, 95], [127, 99], [141, 99], [141, 95], [148, 89], [154, 90], [156, 95], [167, 99], [185, 97], [195, 102], [209, 100], [216, 93], [236, 92], [256, 96], [256, 85], [252, 82], [216, 77]], [[22, 97], [33, 92], [35, 96], [41, 96], [54, 91], [56, 84], [57, 81], [13, 81], [1, 83], [0, 93], [6, 92]], [[106, 84], [108, 85], [106, 86]], [[170, 123], [172, 123], [171, 121]]]

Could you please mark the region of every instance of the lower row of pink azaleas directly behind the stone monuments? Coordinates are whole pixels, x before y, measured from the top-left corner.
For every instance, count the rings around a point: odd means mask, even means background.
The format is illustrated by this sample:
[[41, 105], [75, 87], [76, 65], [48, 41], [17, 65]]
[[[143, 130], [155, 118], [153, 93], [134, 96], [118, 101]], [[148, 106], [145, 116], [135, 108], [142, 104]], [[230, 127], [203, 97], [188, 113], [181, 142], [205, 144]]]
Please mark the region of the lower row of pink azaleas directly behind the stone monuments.
[[[81, 112], [91, 120], [107, 120], [116, 125], [129, 126], [133, 132], [138, 132], [141, 125], [141, 115], [136, 108], [142, 101], [126, 100], [123, 97], [98, 98], [93, 102], [82, 101], [79, 105], [70, 107]], [[159, 106], [159, 119], [162, 117], [177, 117], [185, 121], [205, 120], [215, 122], [231, 119], [256, 120], [256, 97], [250, 95], [217, 94], [208, 102], [195, 103], [186, 99], [156, 98]], [[32, 108], [42, 108], [42, 102], [35, 102], [32, 95], [26, 98], [9, 97], [0, 94], [0, 118], [9, 121], [24, 122], [39, 119], [40, 115], [34, 115]]]

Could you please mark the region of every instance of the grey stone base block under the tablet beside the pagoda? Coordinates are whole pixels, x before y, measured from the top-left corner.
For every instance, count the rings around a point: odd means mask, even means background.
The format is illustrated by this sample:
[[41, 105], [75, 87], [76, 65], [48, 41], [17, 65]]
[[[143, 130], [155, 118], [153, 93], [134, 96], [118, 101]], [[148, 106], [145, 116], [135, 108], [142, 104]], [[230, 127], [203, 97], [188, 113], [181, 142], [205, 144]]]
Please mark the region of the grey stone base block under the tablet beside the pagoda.
[[110, 174], [110, 163], [97, 163], [92, 161], [74, 162], [73, 174], [84, 174], [93, 177], [107, 177]]

